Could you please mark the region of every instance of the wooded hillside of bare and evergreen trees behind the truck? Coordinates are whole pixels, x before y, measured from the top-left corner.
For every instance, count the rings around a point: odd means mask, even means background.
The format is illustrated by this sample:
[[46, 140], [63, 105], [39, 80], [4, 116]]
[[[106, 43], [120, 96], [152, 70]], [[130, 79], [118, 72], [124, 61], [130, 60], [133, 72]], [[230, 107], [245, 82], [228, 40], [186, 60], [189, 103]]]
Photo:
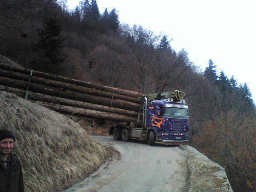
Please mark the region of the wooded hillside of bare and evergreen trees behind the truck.
[[[160, 18], [159, 18], [160, 19]], [[119, 22], [96, 0], [0, 0], [0, 54], [25, 68], [140, 93], [183, 90], [189, 144], [225, 168], [234, 191], [256, 190], [256, 107], [209, 59], [201, 69], [166, 35]]]

